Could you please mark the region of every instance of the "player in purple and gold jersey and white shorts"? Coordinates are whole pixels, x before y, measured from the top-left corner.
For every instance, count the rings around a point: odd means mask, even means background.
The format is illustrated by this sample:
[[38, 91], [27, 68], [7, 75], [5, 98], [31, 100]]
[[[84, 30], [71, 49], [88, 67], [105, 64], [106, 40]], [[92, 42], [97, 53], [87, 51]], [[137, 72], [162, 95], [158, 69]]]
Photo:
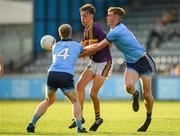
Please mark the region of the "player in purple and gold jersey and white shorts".
[[[80, 8], [81, 23], [85, 27], [84, 36], [81, 42], [83, 46], [100, 42], [106, 37], [102, 27], [98, 23], [94, 22], [95, 12], [96, 9], [92, 4], [85, 4]], [[90, 97], [94, 106], [95, 122], [89, 130], [96, 131], [103, 123], [103, 119], [100, 116], [100, 100], [98, 93], [105, 79], [110, 76], [112, 70], [112, 58], [109, 47], [107, 46], [96, 52], [96, 54], [91, 55], [90, 59], [90, 63], [84, 69], [77, 83], [77, 90], [83, 113], [85, 88], [90, 81], [93, 81], [92, 88], [90, 90]], [[84, 123], [85, 120], [83, 119], [82, 122]], [[75, 126], [76, 124], [73, 121], [69, 128], [73, 128]]]

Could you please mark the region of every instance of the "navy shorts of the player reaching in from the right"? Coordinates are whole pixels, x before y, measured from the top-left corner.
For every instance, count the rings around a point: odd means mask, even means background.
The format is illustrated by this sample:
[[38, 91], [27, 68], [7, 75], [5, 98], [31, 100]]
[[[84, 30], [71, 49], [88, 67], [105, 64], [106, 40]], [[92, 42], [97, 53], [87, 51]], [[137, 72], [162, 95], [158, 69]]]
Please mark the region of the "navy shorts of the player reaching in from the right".
[[139, 75], [152, 76], [156, 72], [156, 65], [153, 59], [146, 53], [136, 63], [125, 63], [126, 69], [133, 69], [138, 72]]

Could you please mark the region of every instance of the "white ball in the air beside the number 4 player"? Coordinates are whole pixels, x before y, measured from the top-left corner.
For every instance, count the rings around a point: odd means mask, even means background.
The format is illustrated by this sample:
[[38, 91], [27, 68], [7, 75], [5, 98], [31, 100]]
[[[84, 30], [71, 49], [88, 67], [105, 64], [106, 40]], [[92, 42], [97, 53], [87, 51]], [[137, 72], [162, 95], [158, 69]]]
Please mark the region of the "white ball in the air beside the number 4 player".
[[51, 35], [45, 35], [41, 38], [41, 47], [44, 50], [51, 51], [52, 46], [56, 43], [56, 39]]

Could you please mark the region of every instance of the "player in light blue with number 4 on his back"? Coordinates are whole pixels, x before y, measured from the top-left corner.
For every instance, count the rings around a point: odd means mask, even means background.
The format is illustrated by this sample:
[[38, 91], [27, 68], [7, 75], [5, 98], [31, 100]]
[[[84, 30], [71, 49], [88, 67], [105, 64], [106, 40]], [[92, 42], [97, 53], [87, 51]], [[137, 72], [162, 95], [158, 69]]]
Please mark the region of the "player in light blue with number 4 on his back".
[[59, 36], [61, 41], [53, 45], [52, 64], [48, 70], [46, 98], [42, 101], [27, 127], [28, 132], [34, 132], [36, 122], [46, 112], [48, 107], [56, 100], [56, 91], [58, 88], [72, 103], [73, 114], [78, 133], [86, 133], [86, 129], [81, 126], [81, 106], [78, 100], [78, 94], [74, 89], [74, 66], [80, 53], [83, 51], [81, 44], [72, 41], [72, 28], [68, 24], [59, 27]]

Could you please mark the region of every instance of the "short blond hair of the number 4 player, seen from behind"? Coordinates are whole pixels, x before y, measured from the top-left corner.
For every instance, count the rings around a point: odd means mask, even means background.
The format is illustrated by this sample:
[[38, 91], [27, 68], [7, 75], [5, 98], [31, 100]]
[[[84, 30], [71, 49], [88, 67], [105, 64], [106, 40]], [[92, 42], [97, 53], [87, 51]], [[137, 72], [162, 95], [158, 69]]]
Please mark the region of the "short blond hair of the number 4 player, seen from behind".
[[72, 27], [69, 24], [62, 24], [58, 32], [61, 38], [68, 38], [72, 34]]

